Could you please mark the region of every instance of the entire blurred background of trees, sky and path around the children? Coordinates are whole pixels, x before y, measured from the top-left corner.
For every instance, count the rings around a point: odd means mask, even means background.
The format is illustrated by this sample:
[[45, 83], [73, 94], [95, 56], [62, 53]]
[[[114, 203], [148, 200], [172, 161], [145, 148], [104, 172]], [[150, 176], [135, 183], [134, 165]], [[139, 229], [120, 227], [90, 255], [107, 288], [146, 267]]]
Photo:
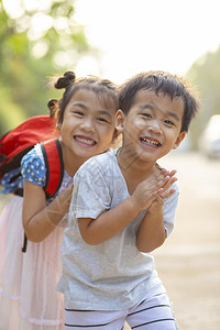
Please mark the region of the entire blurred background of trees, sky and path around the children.
[[182, 152], [163, 161], [182, 194], [175, 232], [155, 252], [180, 330], [220, 324], [219, 13], [219, 0], [0, 1], [0, 135], [47, 113], [61, 97], [50, 77], [66, 69], [116, 84], [163, 69], [197, 86], [200, 112]]

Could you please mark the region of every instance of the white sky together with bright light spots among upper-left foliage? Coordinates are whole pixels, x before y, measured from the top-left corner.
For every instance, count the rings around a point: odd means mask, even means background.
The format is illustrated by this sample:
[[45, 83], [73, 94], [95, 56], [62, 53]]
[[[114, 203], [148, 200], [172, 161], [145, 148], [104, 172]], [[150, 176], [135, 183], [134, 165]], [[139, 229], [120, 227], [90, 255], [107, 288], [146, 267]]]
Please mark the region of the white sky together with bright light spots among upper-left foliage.
[[[67, 53], [53, 57], [55, 66], [74, 66], [78, 75], [107, 76], [117, 84], [150, 69], [185, 75], [194, 62], [202, 65], [206, 53], [216, 52], [220, 44], [218, 0], [66, 1], [75, 3], [75, 12], [67, 18], [61, 9], [56, 19], [48, 14], [52, 2], [4, 0], [3, 6], [11, 18], [19, 20], [18, 32], [28, 29], [36, 58], [48, 52], [48, 43], [42, 36], [53, 25], [62, 34], [64, 44], [70, 34], [69, 19], [75, 29], [84, 26], [88, 43], [97, 54], [84, 54], [76, 64], [76, 50], [69, 41]], [[36, 12], [24, 19], [24, 10]]]

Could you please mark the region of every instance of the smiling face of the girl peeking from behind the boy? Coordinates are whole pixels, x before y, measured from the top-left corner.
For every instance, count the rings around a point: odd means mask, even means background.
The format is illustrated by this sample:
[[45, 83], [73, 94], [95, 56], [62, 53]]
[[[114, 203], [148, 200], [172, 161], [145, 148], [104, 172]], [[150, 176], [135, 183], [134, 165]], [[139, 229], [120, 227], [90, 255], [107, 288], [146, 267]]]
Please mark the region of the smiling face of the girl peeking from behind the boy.
[[113, 101], [107, 105], [90, 89], [78, 89], [69, 100], [61, 127], [65, 155], [85, 162], [105, 152], [116, 128]]

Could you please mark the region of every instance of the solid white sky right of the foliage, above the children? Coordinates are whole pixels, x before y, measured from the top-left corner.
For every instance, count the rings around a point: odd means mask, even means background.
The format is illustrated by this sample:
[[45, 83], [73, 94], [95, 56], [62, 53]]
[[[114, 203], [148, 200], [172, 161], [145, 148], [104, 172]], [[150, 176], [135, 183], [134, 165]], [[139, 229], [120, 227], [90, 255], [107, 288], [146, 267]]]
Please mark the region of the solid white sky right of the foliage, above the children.
[[[80, 0], [76, 8], [90, 43], [101, 51], [97, 73], [116, 82], [151, 69], [185, 75], [220, 44], [218, 0]], [[85, 73], [94, 69], [84, 65]]]

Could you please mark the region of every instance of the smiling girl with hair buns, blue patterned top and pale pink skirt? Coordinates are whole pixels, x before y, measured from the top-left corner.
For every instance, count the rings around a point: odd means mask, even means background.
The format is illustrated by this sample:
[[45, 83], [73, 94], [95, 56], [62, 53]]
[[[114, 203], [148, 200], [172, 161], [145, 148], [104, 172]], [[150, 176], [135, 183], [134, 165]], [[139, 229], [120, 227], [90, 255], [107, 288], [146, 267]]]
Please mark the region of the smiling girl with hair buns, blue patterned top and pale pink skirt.
[[[116, 134], [118, 101], [111, 81], [97, 77], [76, 80], [75, 74], [68, 72], [55, 87], [65, 88], [57, 113], [64, 178], [57, 196], [46, 200], [46, 168], [40, 144], [22, 160], [24, 196], [14, 196], [0, 219], [4, 238], [0, 255], [3, 330], [63, 329], [63, 297], [55, 292], [55, 284], [61, 276], [63, 218], [69, 207], [73, 177], [86, 160], [107, 151]], [[56, 108], [57, 102], [48, 106]], [[22, 254], [24, 232], [29, 243]]]

